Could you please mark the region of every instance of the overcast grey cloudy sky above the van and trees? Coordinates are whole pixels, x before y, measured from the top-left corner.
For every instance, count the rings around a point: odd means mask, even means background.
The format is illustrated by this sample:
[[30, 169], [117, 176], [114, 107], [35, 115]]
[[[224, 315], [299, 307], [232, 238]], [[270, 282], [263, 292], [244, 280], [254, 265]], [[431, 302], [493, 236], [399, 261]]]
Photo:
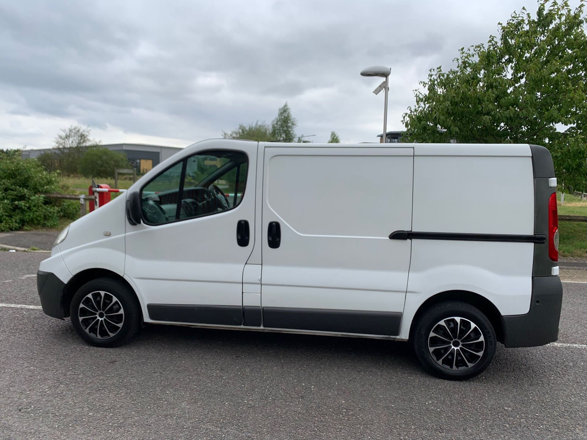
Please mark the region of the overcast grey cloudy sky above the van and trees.
[[[576, 2], [573, 2], [573, 4]], [[535, 0], [0, 0], [0, 148], [50, 147], [82, 124], [102, 143], [184, 146], [288, 101], [298, 134], [375, 141], [427, 71]]]

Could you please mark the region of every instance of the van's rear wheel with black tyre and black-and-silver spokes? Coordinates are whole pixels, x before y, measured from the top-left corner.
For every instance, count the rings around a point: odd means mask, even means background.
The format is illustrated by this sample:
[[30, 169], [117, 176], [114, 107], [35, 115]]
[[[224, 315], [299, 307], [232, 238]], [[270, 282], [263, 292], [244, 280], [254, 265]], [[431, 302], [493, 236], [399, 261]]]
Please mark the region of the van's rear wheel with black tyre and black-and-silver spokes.
[[497, 344], [487, 317], [460, 301], [431, 306], [416, 322], [411, 338], [426, 370], [448, 380], [466, 380], [482, 373]]

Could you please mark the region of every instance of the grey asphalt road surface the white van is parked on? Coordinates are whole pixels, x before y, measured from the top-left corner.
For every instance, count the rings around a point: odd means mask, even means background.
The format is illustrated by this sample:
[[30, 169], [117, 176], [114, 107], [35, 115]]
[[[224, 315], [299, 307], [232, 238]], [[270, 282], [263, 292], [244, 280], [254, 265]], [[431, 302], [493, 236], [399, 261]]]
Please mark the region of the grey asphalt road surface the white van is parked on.
[[[0, 303], [39, 304], [45, 257], [0, 252]], [[101, 349], [0, 306], [0, 438], [587, 438], [587, 284], [564, 292], [559, 345], [460, 383], [407, 343], [150, 326]]]

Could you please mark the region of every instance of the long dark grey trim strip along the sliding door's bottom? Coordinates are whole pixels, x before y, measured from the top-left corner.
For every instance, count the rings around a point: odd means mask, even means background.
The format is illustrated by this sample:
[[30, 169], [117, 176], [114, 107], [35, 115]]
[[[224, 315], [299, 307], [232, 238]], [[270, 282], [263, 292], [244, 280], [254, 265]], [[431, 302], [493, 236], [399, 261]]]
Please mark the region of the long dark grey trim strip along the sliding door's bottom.
[[333, 331], [398, 336], [400, 312], [263, 307], [263, 326], [272, 329]]

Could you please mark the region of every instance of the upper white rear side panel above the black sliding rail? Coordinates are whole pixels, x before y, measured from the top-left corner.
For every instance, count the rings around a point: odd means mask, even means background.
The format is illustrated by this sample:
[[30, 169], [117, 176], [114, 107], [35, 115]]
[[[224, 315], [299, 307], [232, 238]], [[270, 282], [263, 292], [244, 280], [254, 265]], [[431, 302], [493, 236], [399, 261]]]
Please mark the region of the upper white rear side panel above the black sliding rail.
[[416, 156], [413, 216], [418, 232], [533, 234], [532, 160]]

